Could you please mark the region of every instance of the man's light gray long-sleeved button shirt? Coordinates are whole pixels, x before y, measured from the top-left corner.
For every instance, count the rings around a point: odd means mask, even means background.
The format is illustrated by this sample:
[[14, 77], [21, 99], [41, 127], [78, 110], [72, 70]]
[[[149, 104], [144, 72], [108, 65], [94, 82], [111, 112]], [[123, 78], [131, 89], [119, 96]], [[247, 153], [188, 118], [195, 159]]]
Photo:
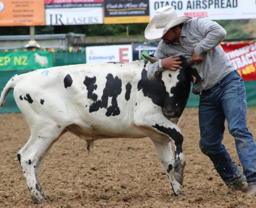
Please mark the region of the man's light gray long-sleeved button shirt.
[[[219, 43], [226, 36], [226, 31], [216, 22], [203, 17], [193, 18], [184, 23], [180, 33], [180, 43], [167, 45], [161, 40], [154, 53], [157, 58], [169, 56], [192, 57], [193, 52], [203, 57], [202, 63], [193, 64], [202, 80], [193, 85], [195, 92], [213, 87], [221, 78], [235, 68]], [[159, 61], [148, 67], [148, 78], [156, 79], [165, 69], [159, 67]]]

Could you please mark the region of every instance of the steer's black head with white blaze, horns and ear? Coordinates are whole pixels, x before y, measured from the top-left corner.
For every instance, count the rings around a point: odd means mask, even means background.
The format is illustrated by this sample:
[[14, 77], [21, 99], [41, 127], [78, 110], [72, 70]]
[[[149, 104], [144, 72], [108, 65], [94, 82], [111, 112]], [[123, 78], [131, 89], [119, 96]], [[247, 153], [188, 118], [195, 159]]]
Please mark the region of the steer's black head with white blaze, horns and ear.
[[[145, 57], [146, 58], [146, 57]], [[147, 56], [148, 58], [148, 56]], [[159, 79], [165, 86], [165, 104], [163, 113], [167, 118], [180, 117], [189, 98], [191, 81], [193, 76], [198, 82], [201, 78], [196, 69], [191, 68], [191, 58], [180, 57], [182, 64], [176, 71], [164, 70]], [[154, 63], [157, 58], [150, 57], [149, 61]]]

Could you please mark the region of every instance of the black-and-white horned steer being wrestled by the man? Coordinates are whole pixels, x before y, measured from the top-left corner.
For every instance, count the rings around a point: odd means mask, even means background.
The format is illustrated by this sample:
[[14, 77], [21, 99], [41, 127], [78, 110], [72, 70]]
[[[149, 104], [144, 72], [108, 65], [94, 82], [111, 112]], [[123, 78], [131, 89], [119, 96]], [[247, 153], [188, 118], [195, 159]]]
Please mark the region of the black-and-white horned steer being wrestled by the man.
[[31, 133], [17, 157], [35, 203], [48, 200], [39, 183], [39, 164], [67, 131], [85, 139], [88, 148], [96, 139], [150, 137], [174, 193], [182, 194], [185, 160], [183, 137], [176, 124], [189, 97], [189, 78], [196, 70], [182, 58], [180, 69], [165, 70], [158, 80], [149, 80], [149, 64], [52, 67], [15, 75], [7, 82], [0, 107], [14, 89], [15, 102]]

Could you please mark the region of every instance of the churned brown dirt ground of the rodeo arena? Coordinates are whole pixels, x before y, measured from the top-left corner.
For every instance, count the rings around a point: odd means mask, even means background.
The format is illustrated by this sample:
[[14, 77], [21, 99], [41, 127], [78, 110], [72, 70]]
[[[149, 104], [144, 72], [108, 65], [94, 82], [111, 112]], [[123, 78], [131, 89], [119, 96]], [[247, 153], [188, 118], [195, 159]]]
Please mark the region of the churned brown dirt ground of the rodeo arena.
[[[249, 109], [247, 117], [248, 127], [256, 136], [256, 109]], [[85, 141], [66, 133], [40, 166], [41, 185], [50, 202], [36, 205], [16, 156], [29, 138], [28, 126], [22, 114], [0, 114], [0, 207], [255, 208], [256, 197], [242, 192], [225, 197], [226, 185], [199, 149], [196, 108], [185, 109], [179, 127], [187, 161], [186, 196], [174, 195], [149, 138], [95, 141], [88, 154]], [[224, 144], [239, 162], [228, 131]]]

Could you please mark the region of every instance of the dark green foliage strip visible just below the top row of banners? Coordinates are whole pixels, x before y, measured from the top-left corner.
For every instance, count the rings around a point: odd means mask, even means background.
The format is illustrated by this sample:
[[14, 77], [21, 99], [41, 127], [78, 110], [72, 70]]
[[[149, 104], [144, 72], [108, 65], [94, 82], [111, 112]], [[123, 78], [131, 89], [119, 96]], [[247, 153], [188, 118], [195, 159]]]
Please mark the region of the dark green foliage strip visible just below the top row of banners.
[[[226, 39], [255, 38], [251, 33], [243, 31], [248, 20], [221, 20], [217, 21], [227, 31]], [[126, 35], [128, 26], [129, 35], [143, 35], [147, 26], [144, 24], [94, 24], [94, 25], [70, 25], [70, 26], [36, 26], [35, 34], [60, 34], [60, 33], [80, 33], [86, 36], [104, 35]], [[0, 35], [29, 35], [28, 26], [1, 27]]]

